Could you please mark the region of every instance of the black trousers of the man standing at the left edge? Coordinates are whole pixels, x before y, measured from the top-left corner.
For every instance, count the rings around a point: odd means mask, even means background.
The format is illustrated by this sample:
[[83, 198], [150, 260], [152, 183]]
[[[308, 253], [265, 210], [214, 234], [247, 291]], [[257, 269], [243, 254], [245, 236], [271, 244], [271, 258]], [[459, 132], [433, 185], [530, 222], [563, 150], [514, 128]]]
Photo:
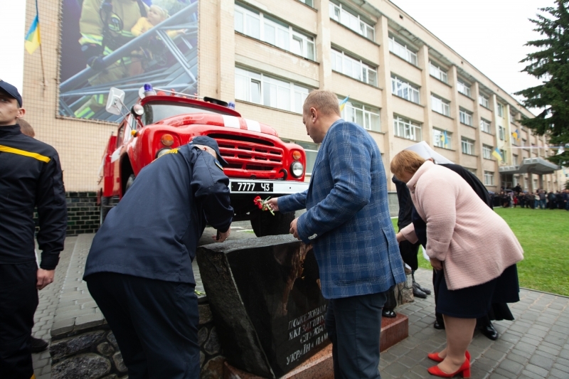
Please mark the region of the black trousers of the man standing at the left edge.
[[31, 329], [38, 307], [38, 265], [0, 265], [0, 378], [30, 379]]

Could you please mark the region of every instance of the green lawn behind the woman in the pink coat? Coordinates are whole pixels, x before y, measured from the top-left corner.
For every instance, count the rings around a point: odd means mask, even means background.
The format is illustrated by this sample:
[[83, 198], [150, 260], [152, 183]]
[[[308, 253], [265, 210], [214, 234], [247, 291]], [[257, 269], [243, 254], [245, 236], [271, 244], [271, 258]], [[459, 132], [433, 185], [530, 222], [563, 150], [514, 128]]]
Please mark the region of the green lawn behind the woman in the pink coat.
[[[569, 296], [569, 212], [496, 208], [523, 247], [524, 259], [518, 264], [520, 286]], [[392, 219], [397, 230], [397, 219]], [[419, 266], [430, 264], [419, 252]]]

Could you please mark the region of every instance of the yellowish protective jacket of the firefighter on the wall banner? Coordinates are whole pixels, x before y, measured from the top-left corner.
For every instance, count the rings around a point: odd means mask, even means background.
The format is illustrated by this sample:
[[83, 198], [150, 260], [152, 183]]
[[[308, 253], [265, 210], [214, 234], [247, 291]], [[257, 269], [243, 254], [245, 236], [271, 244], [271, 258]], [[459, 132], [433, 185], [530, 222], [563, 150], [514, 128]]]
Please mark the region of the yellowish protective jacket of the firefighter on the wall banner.
[[[83, 1], [79, 19], [81, 33], [79, 43], [81, 45], [87, 43], [102, 45], [104, 25], [101, 16], [105, 18], [105, 12], [100, 11], [102, 2], [103, 0]], [[137, 0], [112, 0], [111, 4], [112, 12], [109, 17], [111, 38], [110, 41], [105, 41], [105, 54], [110, 53], [109, 50], [115, 50], [134, 38], [130, 30], [142, 17]], [[143, 5], [148, 11], [148, 6], [146, 4]]]

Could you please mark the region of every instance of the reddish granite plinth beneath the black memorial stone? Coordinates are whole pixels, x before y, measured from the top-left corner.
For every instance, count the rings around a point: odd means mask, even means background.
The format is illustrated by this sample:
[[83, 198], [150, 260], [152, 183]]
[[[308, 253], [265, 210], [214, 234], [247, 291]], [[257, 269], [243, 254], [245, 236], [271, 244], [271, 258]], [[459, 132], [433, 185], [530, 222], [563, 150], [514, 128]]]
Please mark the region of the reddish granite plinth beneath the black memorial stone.
[[[407, 316], [398, 314], [394, 319], [383, 317], [381, 320], [380, 348], [385, 351], [409, 335]], [[332, 362], [332, 346], [329, 344], [317, 354], [304, 361], [281, 379], [333, 379], [334, 363]], [[225, 362], [223, 379], [262, 379], [262, 377], [246, 373]]]

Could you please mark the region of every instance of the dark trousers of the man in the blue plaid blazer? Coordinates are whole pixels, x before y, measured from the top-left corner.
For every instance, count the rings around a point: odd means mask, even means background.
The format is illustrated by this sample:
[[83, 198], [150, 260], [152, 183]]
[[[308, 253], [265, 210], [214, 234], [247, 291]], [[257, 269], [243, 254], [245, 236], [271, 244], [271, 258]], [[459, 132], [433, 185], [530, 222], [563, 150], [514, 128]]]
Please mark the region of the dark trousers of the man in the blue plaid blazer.
[[336, 379], [381, 379], [379, 333], [387, 292], [330, 299], [326, 331]]

